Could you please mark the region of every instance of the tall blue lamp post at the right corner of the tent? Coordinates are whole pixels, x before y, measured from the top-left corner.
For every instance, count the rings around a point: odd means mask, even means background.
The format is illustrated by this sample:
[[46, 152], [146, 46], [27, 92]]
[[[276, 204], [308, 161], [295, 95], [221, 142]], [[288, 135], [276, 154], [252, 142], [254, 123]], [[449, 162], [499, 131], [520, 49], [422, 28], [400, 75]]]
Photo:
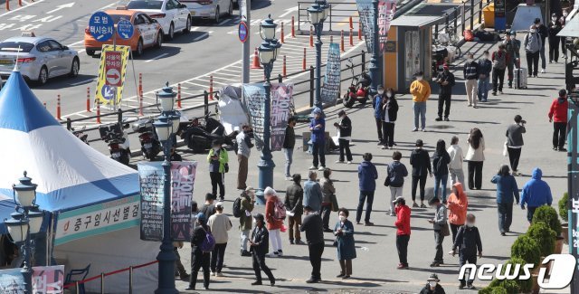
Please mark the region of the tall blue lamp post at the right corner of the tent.
[[175, 287], [175, 251], [173, 251], [173, 240], [171, 238], [171, 147], [173, 147], [173, 137], [179, 127], [179, 115], [174, 111], [176, 92], [173, 88], [166, 87], [157, 92], [157, 99], [160, 100], [161, 115], [153, 123], [157, 138], [163, 145], [165, 161], [163, 162], [164, 185], [163, 185], [163, 241], [157, 255], [159, 261], [158, 288], [156, 294], [177, 294]]

